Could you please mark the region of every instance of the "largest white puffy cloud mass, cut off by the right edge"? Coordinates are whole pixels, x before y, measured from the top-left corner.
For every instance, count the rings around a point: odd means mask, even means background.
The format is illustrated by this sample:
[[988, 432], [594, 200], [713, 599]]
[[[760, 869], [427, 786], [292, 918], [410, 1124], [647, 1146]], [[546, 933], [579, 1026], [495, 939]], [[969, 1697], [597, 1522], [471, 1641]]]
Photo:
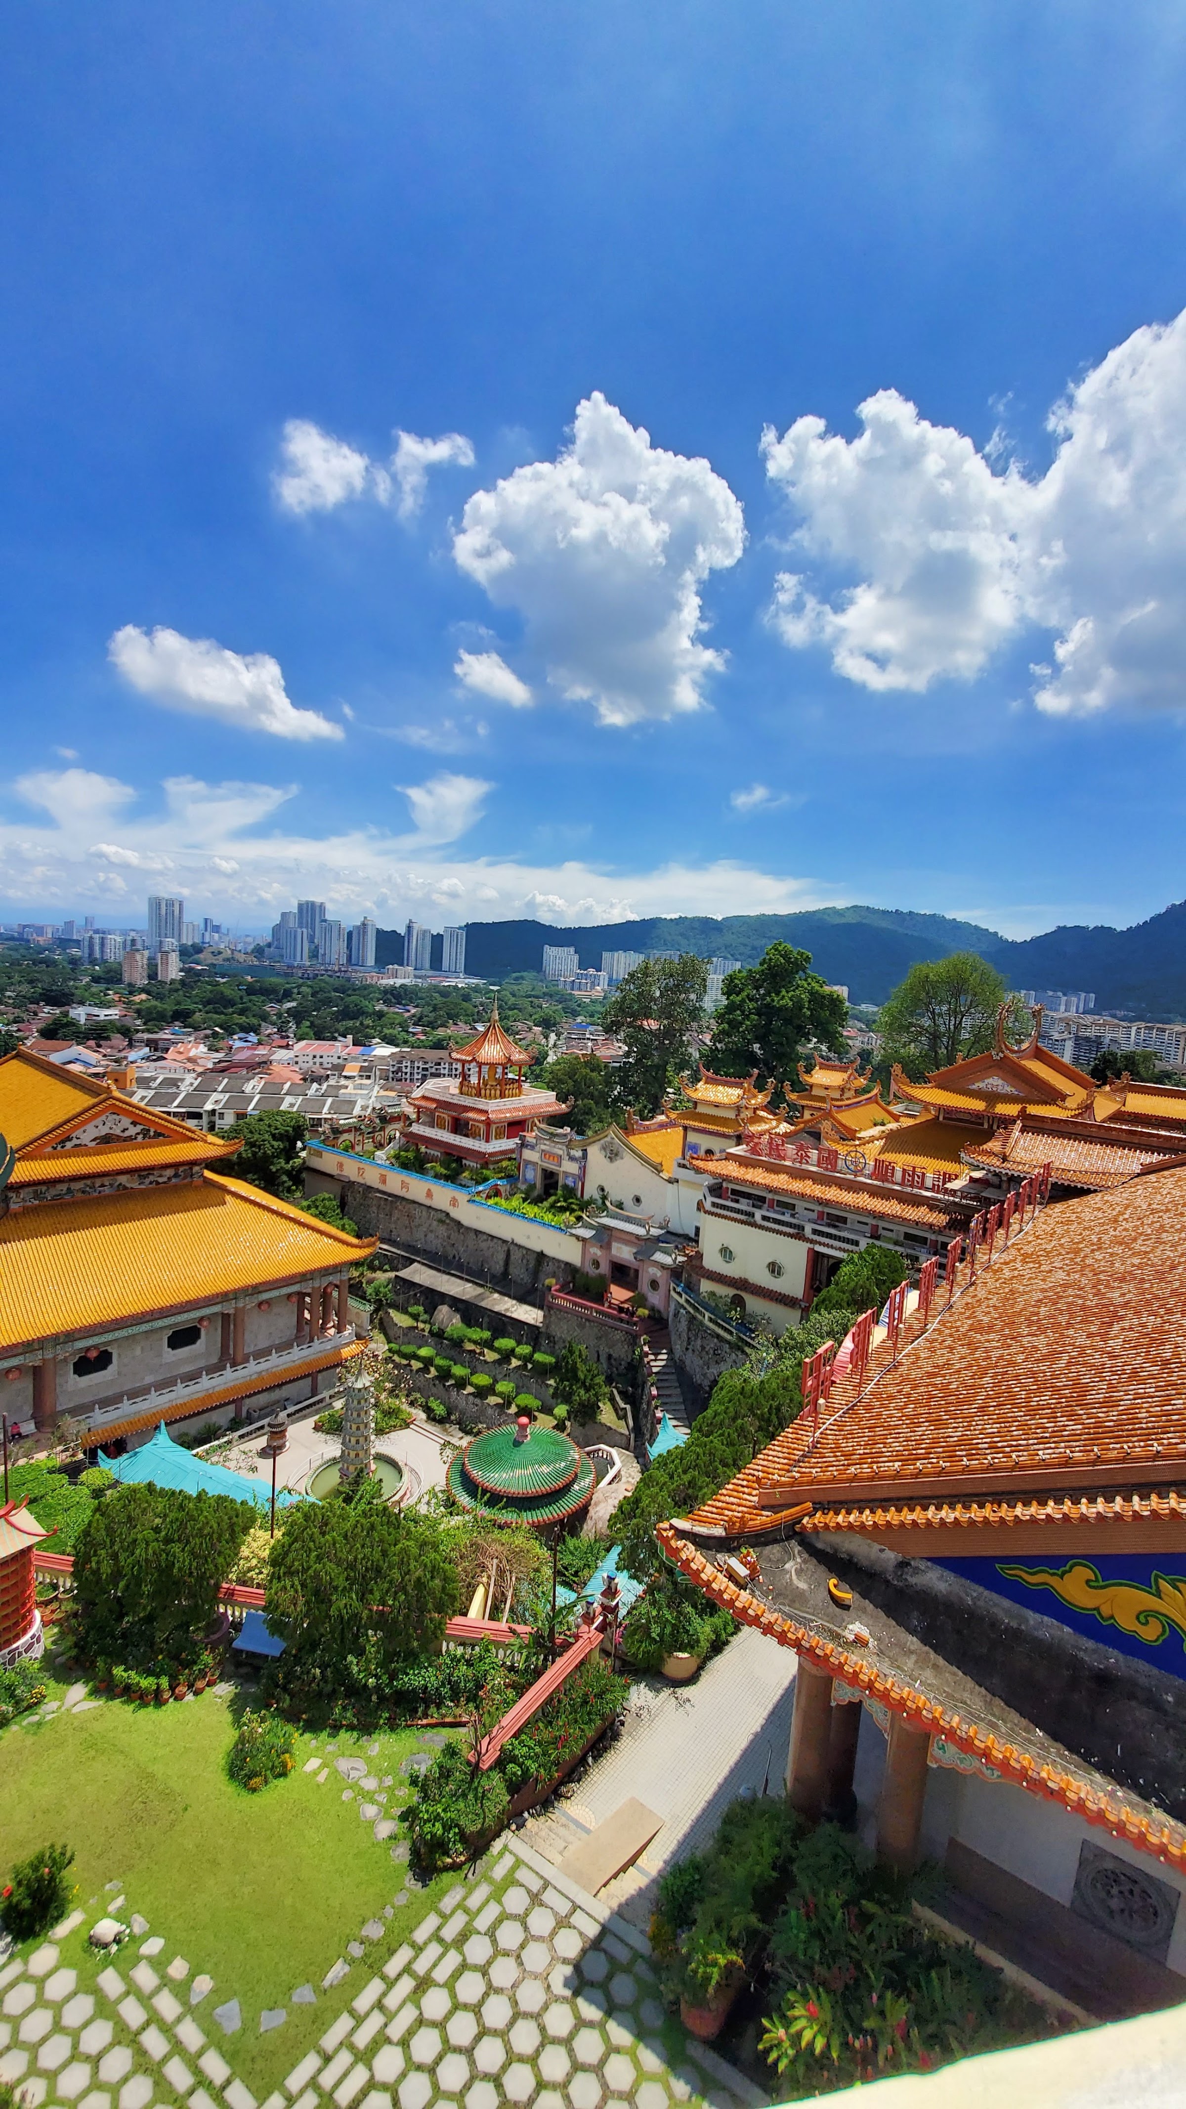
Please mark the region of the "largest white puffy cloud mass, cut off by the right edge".
[[762, 434], [815, 563], [777, 580], [787, 645], [825, 645], [863, 688], [922, 692], [1045, 628], [1038, 709], [1186, 707], [1186, 314], [1133, 331], [1068, 390], [1042, 477], [998, 472], [996, 445], [977, 451], [893, 390], [859, 418], [853, 441], [821, 418]]

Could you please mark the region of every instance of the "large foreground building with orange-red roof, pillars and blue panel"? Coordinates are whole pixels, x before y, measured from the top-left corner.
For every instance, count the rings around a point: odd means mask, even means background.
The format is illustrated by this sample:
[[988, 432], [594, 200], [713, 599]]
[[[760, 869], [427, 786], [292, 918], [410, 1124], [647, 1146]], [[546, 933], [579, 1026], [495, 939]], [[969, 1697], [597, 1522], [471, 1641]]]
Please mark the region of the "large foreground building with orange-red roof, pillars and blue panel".
[[1186, 1997], [1186, 1166], [1036, 1200], [658, 1535], [796, 1651], [793, 1803], [1112, 2014]]

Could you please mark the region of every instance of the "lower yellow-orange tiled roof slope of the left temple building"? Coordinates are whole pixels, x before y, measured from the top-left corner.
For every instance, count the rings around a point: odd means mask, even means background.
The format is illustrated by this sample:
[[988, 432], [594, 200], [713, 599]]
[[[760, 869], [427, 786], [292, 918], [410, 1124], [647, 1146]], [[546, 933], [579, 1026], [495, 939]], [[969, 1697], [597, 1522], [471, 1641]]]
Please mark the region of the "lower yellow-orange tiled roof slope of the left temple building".
[[19, 1208], [0, 1219], [0, 1352], [342, 1270], [376, 1242], [215, 1173]]

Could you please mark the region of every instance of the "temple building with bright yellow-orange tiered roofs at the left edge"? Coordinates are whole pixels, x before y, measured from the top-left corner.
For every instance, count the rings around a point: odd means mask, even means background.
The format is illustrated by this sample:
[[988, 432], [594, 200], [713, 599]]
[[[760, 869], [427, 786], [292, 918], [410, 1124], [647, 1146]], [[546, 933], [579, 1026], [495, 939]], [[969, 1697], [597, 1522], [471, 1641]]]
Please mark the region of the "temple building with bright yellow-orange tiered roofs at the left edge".
[[[310, 1398], [359, 1352], [374, 1240], [228, 1177], [236, 1141], [27, 1050], [0, 1061], [0, 1396], [93, 1451]], [[247, 1405], [249, 1402], [249, 1405]]]

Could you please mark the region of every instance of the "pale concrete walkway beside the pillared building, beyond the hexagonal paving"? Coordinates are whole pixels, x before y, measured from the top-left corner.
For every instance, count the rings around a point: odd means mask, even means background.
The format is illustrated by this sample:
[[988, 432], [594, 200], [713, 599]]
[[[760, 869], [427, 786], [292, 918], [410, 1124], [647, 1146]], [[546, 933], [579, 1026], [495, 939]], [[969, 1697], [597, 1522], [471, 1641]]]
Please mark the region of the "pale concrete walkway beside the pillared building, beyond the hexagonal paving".
[[523, 1837], [555, 1866], [631, 1795], [663, 1816], [642, 1860], [608, 1883], [599, 1900], [646, 1926], [656, 1879], [713, 1837], [722, 1810], [741, 1793], [781, 1793], [791, 1740], [796, 1656], [764, 1632], [743, 1628], [694, 1685], [644, 1679], [614, 1748]]

